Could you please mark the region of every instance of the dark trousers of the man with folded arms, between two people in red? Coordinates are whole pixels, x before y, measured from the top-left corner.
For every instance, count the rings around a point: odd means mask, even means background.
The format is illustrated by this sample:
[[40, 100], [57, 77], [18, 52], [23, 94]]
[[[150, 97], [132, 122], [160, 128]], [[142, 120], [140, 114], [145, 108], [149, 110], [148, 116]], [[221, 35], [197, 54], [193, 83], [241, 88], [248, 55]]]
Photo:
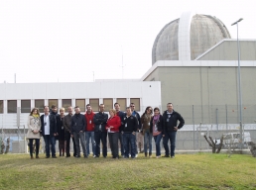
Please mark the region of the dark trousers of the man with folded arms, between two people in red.
[[95, 147], [95, 155], [99, 157], [100, 155], [100, 141], [102, 143], [102, 154], [103, 157], [107, 156], [107, 132], [94, 132], [94, 139], [96, 142], [96, 147]]

